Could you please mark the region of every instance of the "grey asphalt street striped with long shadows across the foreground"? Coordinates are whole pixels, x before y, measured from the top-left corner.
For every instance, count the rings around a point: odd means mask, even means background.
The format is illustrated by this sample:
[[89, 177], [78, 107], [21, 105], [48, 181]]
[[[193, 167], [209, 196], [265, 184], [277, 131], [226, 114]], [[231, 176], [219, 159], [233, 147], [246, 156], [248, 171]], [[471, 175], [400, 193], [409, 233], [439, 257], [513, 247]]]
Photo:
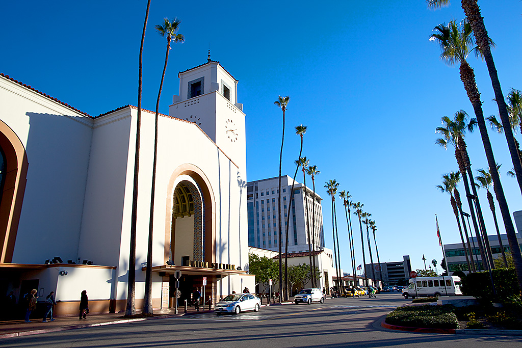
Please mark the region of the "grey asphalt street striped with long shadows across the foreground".
[[[411, 300], [410, 300], [411, 301]], [[207, 313], [69, 330], [0, 341], [0, 347], [519, 347], [522, 337], [385, 330], [380, 319], [410, 302], [400, 294], [334, 298], [323, 305], [263, 307], [258, 313]]]

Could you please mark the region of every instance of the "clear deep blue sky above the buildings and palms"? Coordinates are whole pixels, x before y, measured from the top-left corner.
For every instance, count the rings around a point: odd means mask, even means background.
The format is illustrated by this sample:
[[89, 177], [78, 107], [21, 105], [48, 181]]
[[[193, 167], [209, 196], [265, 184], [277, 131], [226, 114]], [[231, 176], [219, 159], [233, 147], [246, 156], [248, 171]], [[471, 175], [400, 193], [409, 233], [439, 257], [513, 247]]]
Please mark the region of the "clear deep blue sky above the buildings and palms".
[[[522, 89], [522, 3], [480, 0], [504, 93]], [[138, 52], [146, 1], [6, 2], [0, 22], [0, 71], [90, 115], [137, 104]], [[428, 10], [424, 1], [311, 1], [226, 3], [153, 1], [144, 52], [143, 107], [153, 110], [165, 39], [154, 30], [163, 17], [182, 20], [184, 44], [170, 55], [160, 112], [178, 93], [177, 72], [212, 59], [240, 81], [247, 136], [247, 179], [277, 176], [281, 111], [278, 95], [290, 95], [283, 173], [293, 175], [299, 137], [308, 126], [303, 154], [317, 165], [317, 188], [337, 179], [340, 189], [364, 203], [377, 225], [381, 261], [410, 255], [442, 258], [435, 214], [444, 243], [460, 237], [449, 196], [435, 189], [456, 171], [453, 150], [434, 145], [435, 127], [459, 109], [472, 113], [458, 67], [440, 61], [432, 29], [462, 19], [460, 2]], [[470, 57], [485, 115], [497, 114], [485, 63]], [[490, 132], [510, 210], [522, 210], [503, 135]], [[518, 135], [519, 140], [522, 140]], [[468, 136], [473, 169], [487, 166], [478, 131]], [[302, 180], [302, 178], [299, 178]], [[461, 188], [462, 193], [464, 189]], [[494, 234], [485, 193], [480, 193], [489, 234]], [[326, 244], [331, 247], [331, 209], [323, 204]], [[341, 247], [348, 250], [340, 200]], [[499, 214], [500, 215], [500, 214]], [[354, 224], [354, 231], [357, 225]], [[501, 223], [501, 229], [503, 226]], [[360, 246], [359, 237], [355, 245]], [[373, 245], [373, 243], [372, 243]], [[342, 268], [350, 271], [349, 253]], [[362, 263], [357, 249], [357, 263]], [[367, 258], [368, 259], [368, 258]]]

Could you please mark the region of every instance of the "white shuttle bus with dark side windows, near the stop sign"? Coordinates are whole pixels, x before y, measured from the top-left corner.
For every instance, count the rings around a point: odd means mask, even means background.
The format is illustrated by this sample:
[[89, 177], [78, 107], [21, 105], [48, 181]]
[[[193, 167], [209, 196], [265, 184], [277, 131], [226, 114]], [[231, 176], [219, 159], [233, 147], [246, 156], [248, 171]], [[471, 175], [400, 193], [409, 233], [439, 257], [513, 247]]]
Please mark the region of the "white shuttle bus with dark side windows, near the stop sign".
[[409, 281], [410, 285], [402, 290], [404, 298], [416, 296], [456, 296], [462, 295], [460, 291], [460, 278], [456, 275], [445, 277], [417, 277]]

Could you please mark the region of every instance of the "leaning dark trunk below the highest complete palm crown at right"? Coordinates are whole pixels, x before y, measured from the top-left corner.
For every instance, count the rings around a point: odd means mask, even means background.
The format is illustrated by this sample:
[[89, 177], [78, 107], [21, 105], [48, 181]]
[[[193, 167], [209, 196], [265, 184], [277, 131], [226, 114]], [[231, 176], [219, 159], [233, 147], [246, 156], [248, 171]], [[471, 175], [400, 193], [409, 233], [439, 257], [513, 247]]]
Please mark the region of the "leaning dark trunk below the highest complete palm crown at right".
[[488, 165], [490, 167], [491, 178], [493, 180], [493, 188], [495, 190], [496, 199], [497, 201], [499, 201], [499, 208], [502, 214], [502, 219], [504, 221], [504, 226], [506, 228], [509, 247], [511, 248], [513, 261], [515, 261], [515, 271], [517, 274], [518, 286], [519, 289], [522, 289], [522, 254], [520, 253], [520, 246], [518, 245], [518, 241], [516, 238], [515, 227], [513, 226], [513, 221], [511, 220], [511, 216], [509, 214], [509, 208], [507, 206], [506, 197], [504, 196], [504, 190], [500, 182], [499, 171], [497, 170], [495, 158], [493, 156], [493, 150], [491, 148], [491, 142], [488, 136], [488, 129], [486, 127], [484, 115], [482, 113], [480, 94], [474, 79], [473, 69], [468, 64], [461, 64], [460, 71], [462, 82], [464, 82], [464, 87], [466, 88], [469, 100], [471, 101], [471, 104], [473, 105], [473, 110], [475, 111], [475, 114], [477, 116], [480, 136], [482, 138], [484, 151], [486, 153], [486, 158], [488, 159]]

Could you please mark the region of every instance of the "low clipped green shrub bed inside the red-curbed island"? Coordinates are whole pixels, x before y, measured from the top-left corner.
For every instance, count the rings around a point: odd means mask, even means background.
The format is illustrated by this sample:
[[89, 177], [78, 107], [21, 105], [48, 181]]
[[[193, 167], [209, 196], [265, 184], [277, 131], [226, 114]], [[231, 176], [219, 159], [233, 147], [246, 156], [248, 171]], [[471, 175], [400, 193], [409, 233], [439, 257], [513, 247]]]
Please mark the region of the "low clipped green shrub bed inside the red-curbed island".
[[407, 306], [399, 307], [386, 316], [386, 322], [392, 325], [416, 328], [457, 329], [455, 307], [445, 306]]

